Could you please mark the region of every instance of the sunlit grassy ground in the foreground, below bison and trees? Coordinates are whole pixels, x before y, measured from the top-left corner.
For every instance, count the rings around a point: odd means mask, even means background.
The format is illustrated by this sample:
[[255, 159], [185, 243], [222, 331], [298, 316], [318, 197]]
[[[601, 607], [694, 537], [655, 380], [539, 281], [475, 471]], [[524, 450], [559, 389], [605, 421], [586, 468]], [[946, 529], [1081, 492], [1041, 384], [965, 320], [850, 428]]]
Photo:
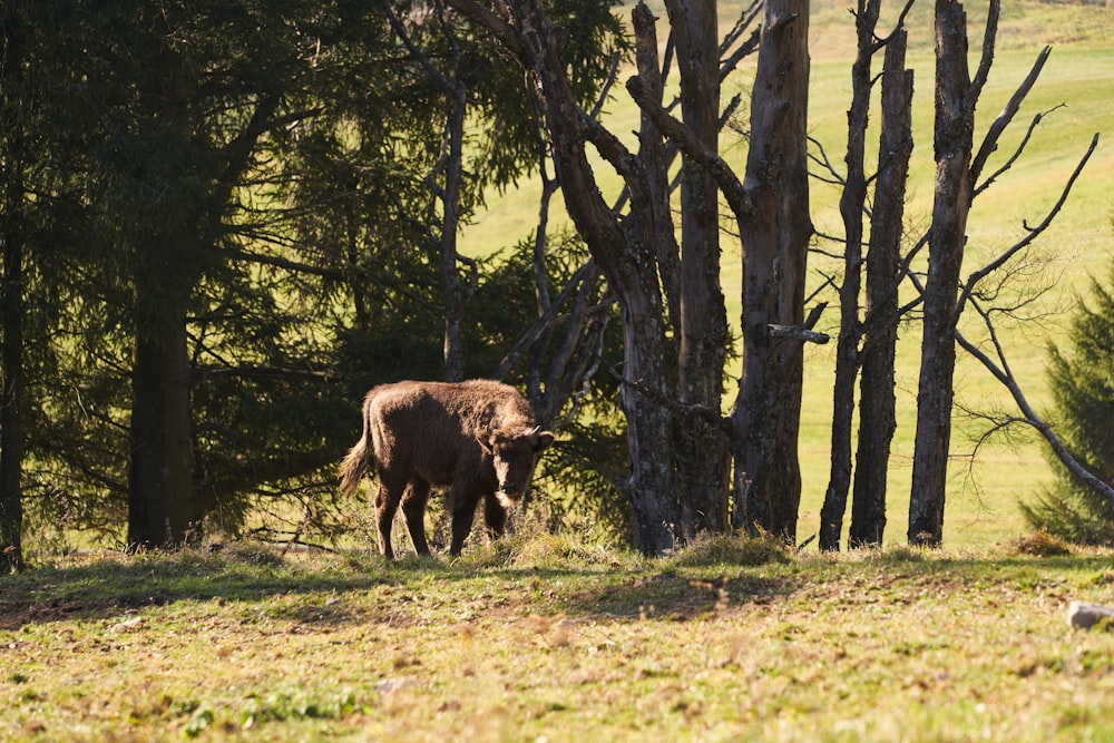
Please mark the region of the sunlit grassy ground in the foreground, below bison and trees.
[[1112, 556], [1016, 547], [68, 560], [0, 578], [0, 740], [1110, 740]]

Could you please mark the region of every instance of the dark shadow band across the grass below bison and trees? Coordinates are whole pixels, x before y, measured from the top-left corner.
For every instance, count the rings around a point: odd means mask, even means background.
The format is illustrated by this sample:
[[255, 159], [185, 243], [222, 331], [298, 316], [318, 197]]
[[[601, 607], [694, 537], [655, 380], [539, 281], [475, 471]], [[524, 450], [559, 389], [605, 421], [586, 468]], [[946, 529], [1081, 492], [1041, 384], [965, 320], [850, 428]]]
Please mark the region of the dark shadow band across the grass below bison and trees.
[[[897, 550], [868, 558], [870, 563], [873, 565], [866, 574], [873, 574], [874, 578], [886, 576], [890, 580], [947, 574], [949, 580], [958, 583], [989, 578], [1025, 585], [1038, 580], [1040, 574], [1055, 573], [1079, 576], [1073, 579], [1076, 583], [1114, 583], [1114, 558], [1108, 554], [1034, 558]], [[668, 561], [647, 563], [637, 568], [612, 568], [607, 564], [563, 566], [559, 561], [492, 565], [485, 564], [482, 558], [458, 563], [447, 556], [410, 556], [388, 563], [369, 550], [338, 553], [319, 563], [292, 559], [270, 548], [234, 547], [221, 553], [187, 550], [116, 556], [0, 577], [0, 630], [18, 630], [28, 624], [109, 619], [144, 607], [179, 602], [219, 600], [247, 605], [284, 595], [302, 598], [268, 607], [276, 618], [336, 625], [375, 622], [382, 616], [397, 618], [391, 614], [391, 602], [436, 600], [439, 585], [446, 586], [446, 600], [452, 600], [453, 596], [459, 597], [459, 590], [447, 588], [448, 584], [492, 579], [508, 589], [518, 586], [515, 589], [518, 596], [502, 604], [514, 610], [619, 620], [687, 622], [725, 606], [778, 602], [799, 590], [803, 580], [824, 580], [828, 569], [818, 566], [814, 571], [780, 570], [768, 566], [759, 571], [717, 564], [677, 570]], [[863, 577], [870, 579], [869, 575]], [[537, 596], [524, 593], [522, 584], [537, 586]], [[344, 599], [346, 593], [379, 592], [384, 586], [388, 590], [371, 607]], [[548, 590], [549, 586], [560, 586], [560, 589]], [[490, 587], [477, 592], [492, 594]], [[498, 596], [498, 590], [494, 593]]]

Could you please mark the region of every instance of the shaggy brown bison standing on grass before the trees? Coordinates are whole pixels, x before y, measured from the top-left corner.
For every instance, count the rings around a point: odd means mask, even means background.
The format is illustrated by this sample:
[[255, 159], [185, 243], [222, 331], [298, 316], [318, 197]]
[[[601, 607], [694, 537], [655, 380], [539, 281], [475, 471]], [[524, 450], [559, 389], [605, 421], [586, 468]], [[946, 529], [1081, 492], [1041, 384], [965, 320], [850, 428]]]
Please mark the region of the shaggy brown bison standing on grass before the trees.
[[450, 488], [449, 553], [459, 555], [480, 497], [488, 527], [501, 535], [507, 511], [521, 501], [539, 454], [553, 441], [551, 432], [535, 424], [526, 399], [500, 382], [383, 384], [363, 400], [363, 436], [341, 465], [341, 490], [355, 490], [373, 448], [379, 549], [393, 558], [391, 525], [399, 504], [414, 551], [429, 555], [429, 489]]

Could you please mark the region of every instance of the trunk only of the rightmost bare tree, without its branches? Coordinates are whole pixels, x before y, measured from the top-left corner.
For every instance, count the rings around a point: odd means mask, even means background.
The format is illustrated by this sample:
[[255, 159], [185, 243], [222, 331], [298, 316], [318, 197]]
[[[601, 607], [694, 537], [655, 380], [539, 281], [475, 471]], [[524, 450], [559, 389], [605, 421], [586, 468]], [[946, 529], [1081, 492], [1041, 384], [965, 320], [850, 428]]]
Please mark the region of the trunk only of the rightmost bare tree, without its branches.
[[971, 201], [975, 107], [969, 99], [967, 16], [955, 0], [936, 2], [936, 195], [925, 284], [908, 530], [910, 544], [929, 546], [940, 545], [944, 538], [956, 366], [955, 313]]

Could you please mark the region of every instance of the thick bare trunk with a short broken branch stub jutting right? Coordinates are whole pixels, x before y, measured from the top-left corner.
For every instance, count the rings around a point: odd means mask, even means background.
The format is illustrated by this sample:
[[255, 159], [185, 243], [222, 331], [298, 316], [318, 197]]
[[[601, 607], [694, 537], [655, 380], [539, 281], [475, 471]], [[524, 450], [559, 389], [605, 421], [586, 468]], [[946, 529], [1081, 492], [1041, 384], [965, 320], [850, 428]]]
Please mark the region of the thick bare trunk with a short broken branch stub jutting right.
[[744, 189], [743, 374], [731, 412], [733, 521], [797, 538], [803, 348], [771, 325], [800, 326], [812, 222], [805, 153], [809, 3], [765, 3]]

